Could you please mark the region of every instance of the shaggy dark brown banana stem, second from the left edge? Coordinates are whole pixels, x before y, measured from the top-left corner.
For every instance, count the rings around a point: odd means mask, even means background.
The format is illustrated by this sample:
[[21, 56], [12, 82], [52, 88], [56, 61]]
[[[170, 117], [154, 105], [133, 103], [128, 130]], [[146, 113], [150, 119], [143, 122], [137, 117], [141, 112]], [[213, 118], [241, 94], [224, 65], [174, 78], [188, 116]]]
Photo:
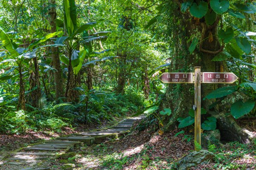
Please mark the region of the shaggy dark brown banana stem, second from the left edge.
[[29, 76], [29, 90], [37, 87], [33, 90], [30, 94], [32, 99], [32, 106], [38, 107], [38, 99], [41, 98], [41, 88], [40, 88], [40, 81], [39, 81], [39, 68], [38, 68], [38, 60], [37, 58], [33, 58], [35, 71], [32, 72]]

